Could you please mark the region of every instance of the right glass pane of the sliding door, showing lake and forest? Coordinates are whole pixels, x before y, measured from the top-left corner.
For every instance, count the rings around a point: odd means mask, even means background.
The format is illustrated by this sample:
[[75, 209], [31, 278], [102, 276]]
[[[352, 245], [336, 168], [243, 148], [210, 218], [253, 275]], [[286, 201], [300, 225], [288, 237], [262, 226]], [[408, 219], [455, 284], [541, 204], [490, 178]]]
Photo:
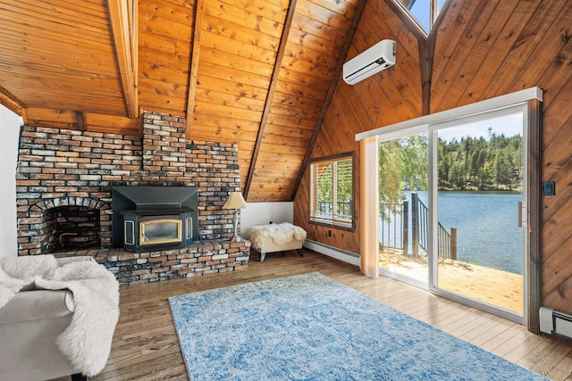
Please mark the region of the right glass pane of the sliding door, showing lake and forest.
[[433, 127], [433, 288], [524, 314], [523, 107]]

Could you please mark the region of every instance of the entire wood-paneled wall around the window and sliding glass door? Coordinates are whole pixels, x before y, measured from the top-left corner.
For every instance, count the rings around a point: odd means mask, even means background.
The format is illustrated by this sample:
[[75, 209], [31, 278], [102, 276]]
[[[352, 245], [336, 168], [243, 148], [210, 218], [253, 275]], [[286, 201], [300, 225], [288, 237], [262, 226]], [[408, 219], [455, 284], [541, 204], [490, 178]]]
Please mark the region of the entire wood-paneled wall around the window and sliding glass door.
[[[422, 99], [416, 37], [386, 1], [367, 3], [347, 59], [392, 38], [398, 62], [353, 87], [339, 81], [312, 157], [357, 151], [357, 132], [418, 117], [424, 103], [433, 113], [542, 87], [542, 180], [556, 182], [556, 195], [542, 199], [542, 304], [572, 313], [572, 2], [452, 0], [433, 33], [430, 95]], [[305, 174], [296, 223], [309, 239], [359, 253], [358, 225], [330, 237], [308, 224], [307, 181]], [[358, 186], [356, 196], [359, 205]]]

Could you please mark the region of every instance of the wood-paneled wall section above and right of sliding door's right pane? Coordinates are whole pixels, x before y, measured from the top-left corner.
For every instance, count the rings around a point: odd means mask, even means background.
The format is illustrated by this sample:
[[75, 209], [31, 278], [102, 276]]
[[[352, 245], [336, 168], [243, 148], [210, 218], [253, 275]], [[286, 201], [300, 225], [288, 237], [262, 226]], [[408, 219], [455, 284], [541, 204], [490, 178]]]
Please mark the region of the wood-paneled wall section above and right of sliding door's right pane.
[[454, 2], [436, 37], [431, 112], [543, 88], [542, 304], [572, 313], [572, 2]]

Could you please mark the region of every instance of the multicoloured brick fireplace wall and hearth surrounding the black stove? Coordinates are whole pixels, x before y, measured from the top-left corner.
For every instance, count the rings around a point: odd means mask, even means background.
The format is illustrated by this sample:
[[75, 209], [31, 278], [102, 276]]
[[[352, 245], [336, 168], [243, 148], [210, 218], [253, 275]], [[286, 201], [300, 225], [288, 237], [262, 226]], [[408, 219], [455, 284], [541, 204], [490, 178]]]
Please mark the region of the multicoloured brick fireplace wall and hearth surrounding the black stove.
[[[19, 255], [91, 255], [122, 284], [241, 269], [248, 242], [231, 243], [240, 191], [238, 147], [188, 141], [184, 118], [144, 112], [143, 137], [24, 126], [18, 171]], [[198, 236], [189, 247], [128, 253], [114, 247], [114, 186], [195, 186]]]

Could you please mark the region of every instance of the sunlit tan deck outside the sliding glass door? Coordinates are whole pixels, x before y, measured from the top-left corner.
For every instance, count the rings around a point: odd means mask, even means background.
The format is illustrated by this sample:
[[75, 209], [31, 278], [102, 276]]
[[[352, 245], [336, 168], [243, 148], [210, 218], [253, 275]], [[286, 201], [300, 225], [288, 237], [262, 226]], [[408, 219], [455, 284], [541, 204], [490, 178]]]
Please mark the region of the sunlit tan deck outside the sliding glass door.
[[[382, 269], [427, 283], [426, 257], [415, 259], [399, 253], [383, 252], [379, 258]], [[440, 259], [438, 282], [442, 289], [451, 293], [467, 296], [508, 311], [523, 313], [522, 275], [461, 261]]]

